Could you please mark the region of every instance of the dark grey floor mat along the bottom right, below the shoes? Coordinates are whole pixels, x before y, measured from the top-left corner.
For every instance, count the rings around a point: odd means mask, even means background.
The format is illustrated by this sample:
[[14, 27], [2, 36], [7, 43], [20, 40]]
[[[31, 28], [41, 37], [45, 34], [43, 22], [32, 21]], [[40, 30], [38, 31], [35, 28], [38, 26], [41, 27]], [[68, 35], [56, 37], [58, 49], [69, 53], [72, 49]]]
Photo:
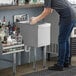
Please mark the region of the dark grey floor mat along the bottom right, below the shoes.
[[64, 69], [64, 71], [52, 71], [46, 69], [38, 72], [33, 72], [30, 74], [25, 74], [22, 76], [76, 76], [76, 66]]

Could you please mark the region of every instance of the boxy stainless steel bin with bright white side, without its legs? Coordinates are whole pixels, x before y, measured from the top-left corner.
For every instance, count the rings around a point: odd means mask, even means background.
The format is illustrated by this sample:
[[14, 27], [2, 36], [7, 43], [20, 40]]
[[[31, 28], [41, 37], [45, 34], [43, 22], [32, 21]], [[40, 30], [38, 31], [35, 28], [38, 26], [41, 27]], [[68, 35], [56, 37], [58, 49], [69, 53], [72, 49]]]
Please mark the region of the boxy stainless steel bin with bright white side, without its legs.
[[18, 22], [24, 44], [31, 47], [50, 45], [50, 23], [37, 23], [30, 25], [26, 22]]

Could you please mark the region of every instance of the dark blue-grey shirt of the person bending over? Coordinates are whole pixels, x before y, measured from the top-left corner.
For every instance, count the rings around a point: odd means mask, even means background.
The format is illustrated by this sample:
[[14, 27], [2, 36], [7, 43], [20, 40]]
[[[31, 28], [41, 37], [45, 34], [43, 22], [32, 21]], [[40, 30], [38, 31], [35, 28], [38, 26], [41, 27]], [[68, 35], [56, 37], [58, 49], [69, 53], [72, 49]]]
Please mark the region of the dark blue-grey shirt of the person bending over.
[[73, 8], [67, 0], [44, 0], [44, 2], [45, 8], [55, 9], [60, 17], [70, 17], [71, 19], [76, 19], [75, 8]]

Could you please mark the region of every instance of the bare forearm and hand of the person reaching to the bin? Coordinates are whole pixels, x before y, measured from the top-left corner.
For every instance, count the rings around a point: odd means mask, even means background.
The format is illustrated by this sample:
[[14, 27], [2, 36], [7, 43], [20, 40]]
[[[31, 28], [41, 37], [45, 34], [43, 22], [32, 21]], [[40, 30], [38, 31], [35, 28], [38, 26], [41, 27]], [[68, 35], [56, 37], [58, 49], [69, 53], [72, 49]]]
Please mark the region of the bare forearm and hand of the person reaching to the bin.
[[52, 13], [52, 11], [53, 9], [51, 8], [44, 8], [44, 11], [40, 15], [31, 18], [30, 24], [36, 24], [38, 21], [44, 19], [47, 15]]

